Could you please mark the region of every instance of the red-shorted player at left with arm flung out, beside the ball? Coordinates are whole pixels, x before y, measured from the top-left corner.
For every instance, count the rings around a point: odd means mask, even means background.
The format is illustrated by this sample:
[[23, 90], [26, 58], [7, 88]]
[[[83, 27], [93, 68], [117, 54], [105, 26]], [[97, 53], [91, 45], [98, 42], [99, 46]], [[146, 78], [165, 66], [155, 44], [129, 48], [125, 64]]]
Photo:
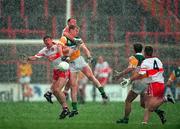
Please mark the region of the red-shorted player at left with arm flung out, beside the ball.
[[[43, 41], [44, 41], [45, 47], [41, 49], [36, 55], [28, 57], [28, 60], [35, 61], [38, 58], [45, 57], [50, 62], [53, 63], [53, 82], [52, 82], [51, 90], [52, 90], [52, 93], [57, 98], [59, 104], [62, 106], [63, 110], [59, 118], [63, 119], [69, 114], [69, 109], [66, 103], [64, 93], [62, 92], [62, 88], [66, 84], [67, 79], [70, 78], [70, 70], [60, 71], [57, 68], [57, 65], [60, 62], [62, 62], [62, 57], [63, 57], [62, 46], [54, 43], [50, 36], [45, 36], [43, 38]], [[49, 99], [51, 100], [51, 98]]]

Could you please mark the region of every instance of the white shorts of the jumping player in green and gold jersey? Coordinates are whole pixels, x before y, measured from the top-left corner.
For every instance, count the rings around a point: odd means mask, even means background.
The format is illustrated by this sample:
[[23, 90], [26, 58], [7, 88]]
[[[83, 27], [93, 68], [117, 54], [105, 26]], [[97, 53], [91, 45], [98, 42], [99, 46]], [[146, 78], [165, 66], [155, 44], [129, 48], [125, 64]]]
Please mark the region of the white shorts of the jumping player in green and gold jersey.
[[88, 66], [88, 64], [86, 63], [86, 61], [84, 60], [84, 58], [82, 56], [79, 56], [77, 59], [70, 62], [69, 66], [70, 66], [71, 72], [79, 72], [84, 67]]

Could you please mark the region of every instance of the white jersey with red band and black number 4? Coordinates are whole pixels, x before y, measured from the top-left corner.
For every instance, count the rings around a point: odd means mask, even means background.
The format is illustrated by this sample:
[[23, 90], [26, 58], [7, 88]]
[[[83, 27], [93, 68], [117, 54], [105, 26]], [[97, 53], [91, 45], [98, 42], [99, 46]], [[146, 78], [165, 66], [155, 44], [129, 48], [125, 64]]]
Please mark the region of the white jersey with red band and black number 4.
[[164, 69], [162, 62], [157, 57], [152, 57], [146, 58], [142, 62], [139, 74], [147, 75], [147, 78], [144, 79], [146, 83], [164, 83], [163, 72]]

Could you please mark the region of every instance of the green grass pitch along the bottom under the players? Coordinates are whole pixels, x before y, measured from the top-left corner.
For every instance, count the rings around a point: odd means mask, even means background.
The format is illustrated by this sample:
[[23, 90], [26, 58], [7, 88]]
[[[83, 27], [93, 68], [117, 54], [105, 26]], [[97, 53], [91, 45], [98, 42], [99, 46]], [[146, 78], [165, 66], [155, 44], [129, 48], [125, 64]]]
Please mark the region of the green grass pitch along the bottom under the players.
[[143, 109], [133, 103], [129, 124], [116, 124], [123, 115], [124, 103], [86, 103], [79, 105], [79, 115], [58, 119], [58, 103], [16, 102], [0, 103], [0, 129], [180, 129], [180, 103], [164, 104], [167, 123], [162, 125], [156, 114], [152, 114], [148, 125], [141, 125]]

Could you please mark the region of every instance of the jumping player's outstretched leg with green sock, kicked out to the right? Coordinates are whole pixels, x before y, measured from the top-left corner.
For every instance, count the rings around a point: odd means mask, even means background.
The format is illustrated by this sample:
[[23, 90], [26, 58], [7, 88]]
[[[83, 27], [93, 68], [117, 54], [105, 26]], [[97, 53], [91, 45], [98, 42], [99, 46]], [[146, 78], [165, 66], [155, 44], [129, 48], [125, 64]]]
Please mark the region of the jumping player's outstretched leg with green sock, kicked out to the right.
[[89, 66], [86, 66], [82, 69], [82, 72], [84, 73], [84, 75], [86, 75], [86, 77], [93, 82], [93, 84], [98, 88], [99, 92], [101, 93], [101, 96], [104, 100], [108, 100], [108, 97], [104, 91], [104, 88], [102, 87], [102, 85], [100, 84], [100, 82], [95, 78], [91, 68]]

